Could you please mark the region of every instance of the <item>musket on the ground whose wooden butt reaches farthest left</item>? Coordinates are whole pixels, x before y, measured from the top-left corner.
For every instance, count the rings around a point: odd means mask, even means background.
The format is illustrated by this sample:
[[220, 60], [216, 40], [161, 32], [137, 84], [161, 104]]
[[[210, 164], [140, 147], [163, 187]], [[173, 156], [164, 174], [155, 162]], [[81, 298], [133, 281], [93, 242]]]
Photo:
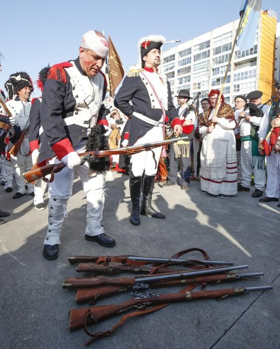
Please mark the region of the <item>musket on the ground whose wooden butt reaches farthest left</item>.
[[192, 276], [200, 275], [212, 275], [218, 273], [224, 273], [231, 270], [246, 269], [248, 265], [239, 265], [235, 267], [224, 268], [209, 268], [197, 271], [188, 271], [185, 273], [165, 273], [157, 274], [155, 276], [150, 275], [146, 277], [138, 276], [126, 276], [119, 278], [108, 278], [105, 276], [96, 276], [91, 278], [67, 278], [64, 280], [63, 288], [75, 288], [75, 287], [93, 287], [93, 286], [105, 286], [105, 285], [118, 285], [118, 286], [134, 286], [137, 283], [155, 283], [163, 280], [184, 279]]

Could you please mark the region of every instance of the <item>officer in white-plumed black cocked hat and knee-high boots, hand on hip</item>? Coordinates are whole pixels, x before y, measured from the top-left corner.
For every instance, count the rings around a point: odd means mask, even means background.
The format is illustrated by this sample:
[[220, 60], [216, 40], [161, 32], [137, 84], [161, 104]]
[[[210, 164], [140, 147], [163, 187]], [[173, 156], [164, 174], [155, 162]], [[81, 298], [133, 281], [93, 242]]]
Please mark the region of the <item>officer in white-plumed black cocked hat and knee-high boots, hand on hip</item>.
[[[183, 128], [178, 112], [172, 102], [170, 84], [166, 75], [158, 73], [161, 61], [160, 49], [164, 41], [165, 38], [161, 35], [151, 35], [139, 41], [142, 69], [131, 70], [115, 96], [114, 105], [130, 118], [130, 128], [125, 136], [129, 146], [163, 140], [166, 114], [174, 128], [174, 134], [182, 133]], [[153, 152], [141, 152], [131, 156], [130, 222], [133, 225], [140, 224], [139, 211], [142, 215], [153, 218], [165, 218], [151, 205], [161, 151], [162, 148], [159, 147]], [[143, 174], [143, 200], [140, 210]]]

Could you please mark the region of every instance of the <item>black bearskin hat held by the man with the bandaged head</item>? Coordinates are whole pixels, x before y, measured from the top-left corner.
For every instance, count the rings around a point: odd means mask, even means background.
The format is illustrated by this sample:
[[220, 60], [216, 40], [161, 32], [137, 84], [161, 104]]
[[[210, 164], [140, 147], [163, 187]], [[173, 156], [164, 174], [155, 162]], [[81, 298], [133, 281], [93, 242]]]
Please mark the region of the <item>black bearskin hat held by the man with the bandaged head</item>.
[[[109, 149], [107, 138], [104, 136], [105, 132], [106, 130], [103, 125], [96, 125], [91, 129], [89, 139], [86, 143], [87, 152]], [[98, 158], [87, 155], [83, 158], [83, 160], [88, 161], [90, 169], [96, 174], [109, 171], [110, 157], [108, 156]]]

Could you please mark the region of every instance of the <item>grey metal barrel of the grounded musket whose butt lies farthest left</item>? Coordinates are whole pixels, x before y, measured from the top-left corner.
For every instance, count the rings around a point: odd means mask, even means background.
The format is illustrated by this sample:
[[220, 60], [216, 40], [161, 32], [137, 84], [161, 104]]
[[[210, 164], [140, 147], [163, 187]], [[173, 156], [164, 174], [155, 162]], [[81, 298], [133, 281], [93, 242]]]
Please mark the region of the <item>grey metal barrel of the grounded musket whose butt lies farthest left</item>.
[[238, 270], [238, 269], [246, 269], [248, 268], [248, 265], [237, 265], [235, 267], [224, 267], [224, 268], [212, 268], [212, 269], [205, 269], [205, 270], [198, 270], [198, 271], [189, 271], [186, 273], [174, 273], [170, 275], [156, 275], [156, 276], [150, 276], [150, 277], [145, 277], [145, 278], [138, 278], [135, 277], [136, 282], [157, 282], [161, 280], [171, 280], [171, 279], [181, 279], [183, 277], [191, 277], [191, 276], [196, 276], [196, 275], [210, 275], [210, 274], [215, 274], [215, 273], [223, 273], [226, 271], [231, 271], [231, 270]]

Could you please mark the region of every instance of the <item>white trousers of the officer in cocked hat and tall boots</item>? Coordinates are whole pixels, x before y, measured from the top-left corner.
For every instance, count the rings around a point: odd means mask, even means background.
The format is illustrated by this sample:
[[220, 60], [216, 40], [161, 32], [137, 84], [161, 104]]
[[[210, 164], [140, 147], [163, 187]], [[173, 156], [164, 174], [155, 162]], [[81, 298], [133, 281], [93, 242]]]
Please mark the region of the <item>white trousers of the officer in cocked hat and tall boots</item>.
[[[154, 126], [144, 136], [139, 138], [135, 146], [144, 143], [152, 143], [163, 140], [163, 128]], [[135, 176], [156, 175], [161, 156], [162, 147], [154, 148], [153, 151], [134, 154], [130, 158], [131, 170]]]

